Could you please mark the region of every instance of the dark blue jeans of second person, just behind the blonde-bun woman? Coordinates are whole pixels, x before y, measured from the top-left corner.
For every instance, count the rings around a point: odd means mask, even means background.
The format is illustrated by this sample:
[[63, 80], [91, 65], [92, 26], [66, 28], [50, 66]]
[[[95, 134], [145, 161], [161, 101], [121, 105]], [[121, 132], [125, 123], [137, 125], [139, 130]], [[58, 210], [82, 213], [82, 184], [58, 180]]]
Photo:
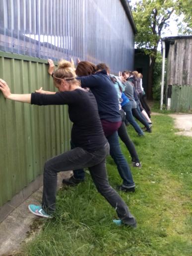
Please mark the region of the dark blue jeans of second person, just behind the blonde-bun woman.
[[[118, 132], [115, 131], [112, 135], [107, 137], [107, 140], [110, 145], [110, 155], [113, 158], [114, 162], [117, 165], [119, 174], [123, 179], [123, 187], [125, 188], [134, 188], [135, 184], [132, 179], [132, 174], [126, 161], [125, 156], [122, 153]], [[73, 171], [73, 176], [77, 180], [84, 180], [85, 173], [83, 169], [78, 169]]]

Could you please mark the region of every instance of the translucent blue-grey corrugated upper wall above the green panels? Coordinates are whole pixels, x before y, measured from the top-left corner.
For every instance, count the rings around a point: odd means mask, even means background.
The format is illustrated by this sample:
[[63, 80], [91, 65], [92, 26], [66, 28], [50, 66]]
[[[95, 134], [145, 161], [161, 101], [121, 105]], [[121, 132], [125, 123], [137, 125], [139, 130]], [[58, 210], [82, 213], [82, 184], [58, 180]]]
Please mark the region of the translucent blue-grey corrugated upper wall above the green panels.
[[0, 50], [133, 68], [134, 33], [120, 0], [1, 0]]

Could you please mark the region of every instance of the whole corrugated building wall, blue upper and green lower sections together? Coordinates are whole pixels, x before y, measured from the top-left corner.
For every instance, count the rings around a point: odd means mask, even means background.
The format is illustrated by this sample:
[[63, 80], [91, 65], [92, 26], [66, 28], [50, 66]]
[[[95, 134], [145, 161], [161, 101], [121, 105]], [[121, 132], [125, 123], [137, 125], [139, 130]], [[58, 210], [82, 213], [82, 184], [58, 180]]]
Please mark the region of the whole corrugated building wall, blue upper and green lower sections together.
[[[46, 59], [132, 69], [134, 33], [120, 0], [0, 0], [0, 51], [0, 78], [12, 92], [52, 90]], [[0, 109], [2, 206], [68, 149], [71, 124], [66, 107], [8, 102], [1, 93]]]

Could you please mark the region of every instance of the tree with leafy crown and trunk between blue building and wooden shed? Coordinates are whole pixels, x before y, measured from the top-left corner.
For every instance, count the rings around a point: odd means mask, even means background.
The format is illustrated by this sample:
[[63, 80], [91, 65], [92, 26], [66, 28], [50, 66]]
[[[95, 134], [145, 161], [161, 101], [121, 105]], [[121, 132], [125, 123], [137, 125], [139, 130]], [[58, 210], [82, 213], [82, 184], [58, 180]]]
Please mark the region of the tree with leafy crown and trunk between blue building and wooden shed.
[[169, 20], [175, 10], [174, 0], [138, 0], [131, 6], [133, 18], [138, 30], [135, 43], [138, 48], [144, 48], [150, 55], [149, 79], [147, 96], [152, 95], [152, 75], [157, 58], [157, 47], [161, 39], [162, 30], [169, 26]]

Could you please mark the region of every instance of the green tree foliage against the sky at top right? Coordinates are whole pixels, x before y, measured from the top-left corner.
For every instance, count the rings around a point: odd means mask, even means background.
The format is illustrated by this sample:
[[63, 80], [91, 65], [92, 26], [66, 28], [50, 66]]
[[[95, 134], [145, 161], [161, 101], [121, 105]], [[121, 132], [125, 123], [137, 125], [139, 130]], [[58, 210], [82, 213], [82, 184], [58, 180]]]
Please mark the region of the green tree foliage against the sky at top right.
[[131, 8], [138, 30], [135, 37], [138, 48], [157, 49], [162, 31], [169, 27], [173, 13], [184, 17], [183, 22], [175, 20], [179, 32], [192, 34], [192, 0], [139, 0]]

